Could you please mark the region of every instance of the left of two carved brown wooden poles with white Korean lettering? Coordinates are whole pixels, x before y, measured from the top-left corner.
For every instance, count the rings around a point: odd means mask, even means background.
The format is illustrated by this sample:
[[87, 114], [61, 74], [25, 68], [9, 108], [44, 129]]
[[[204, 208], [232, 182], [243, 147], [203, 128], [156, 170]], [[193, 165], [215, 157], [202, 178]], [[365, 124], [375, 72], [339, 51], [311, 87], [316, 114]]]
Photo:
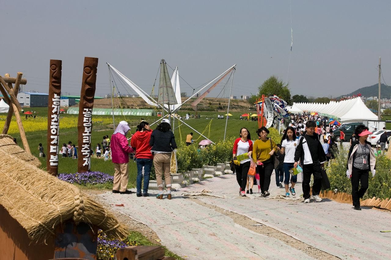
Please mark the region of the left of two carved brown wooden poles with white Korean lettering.
[[58, 174], [58, 131], [60, 123], [59, 114], [61, 98], [61, 66], [62, 61], [50, 60], [46, 169], [48, 173], [54, 176], [57, 176]]

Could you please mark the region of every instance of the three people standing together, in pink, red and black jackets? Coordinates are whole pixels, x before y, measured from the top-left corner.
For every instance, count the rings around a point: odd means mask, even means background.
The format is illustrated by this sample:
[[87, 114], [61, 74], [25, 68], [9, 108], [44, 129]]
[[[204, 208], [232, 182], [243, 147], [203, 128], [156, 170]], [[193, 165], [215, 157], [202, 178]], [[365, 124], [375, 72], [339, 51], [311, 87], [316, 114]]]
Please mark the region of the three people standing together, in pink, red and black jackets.
[[[148, 197], [149, 178], [152, 163], [155, 168], [158, 194], [156, 198], [163, 199], [163, 176], [167, 188], [167, 199], [171, 199], [171, 153], [177, 148], [174, 134], [171, 131], [170, 121], [161, 120], [155, 130], [151, 130], [149, 123], [142, 121], [137, 126], [137, 131], [131, 137], [130, 146], [126, 135], [130, 127], [126, 121], [121, 121], [114, 134], [111, 136], [111, 157], [114, 164], [113, 193], [130, 194], [126, 189], [129, 177], [128, 167], [129, 153], [135, 153], [137, 164], [136, 196]], [[143, 192], [142, 188], [143, 182]]]

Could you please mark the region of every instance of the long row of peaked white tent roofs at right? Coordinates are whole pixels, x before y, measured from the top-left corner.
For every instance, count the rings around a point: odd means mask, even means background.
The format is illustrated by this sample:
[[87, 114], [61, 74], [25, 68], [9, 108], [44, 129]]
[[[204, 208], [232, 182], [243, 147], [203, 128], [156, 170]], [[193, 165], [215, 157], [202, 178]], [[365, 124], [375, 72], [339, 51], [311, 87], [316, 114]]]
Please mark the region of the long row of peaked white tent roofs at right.
[[291, 113], [298, 110], [317, 112], [323, 116], [339, 119], [341, 122], [362, 122], [362, 120], [377, 120], [377, 115], [366, 107], [361, 98], [352, 98], [329, 103], [293, 103]]

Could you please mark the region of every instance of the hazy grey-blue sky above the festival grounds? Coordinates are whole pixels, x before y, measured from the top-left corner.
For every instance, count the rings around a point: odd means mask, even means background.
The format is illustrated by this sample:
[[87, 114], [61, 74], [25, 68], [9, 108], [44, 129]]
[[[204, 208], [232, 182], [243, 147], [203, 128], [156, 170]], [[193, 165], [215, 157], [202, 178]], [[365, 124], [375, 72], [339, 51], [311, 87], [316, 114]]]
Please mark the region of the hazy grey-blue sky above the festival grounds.
[[[79, 95], [84, 57], [99, 58], [98, 96], [111, 92], [106, 62], [151, 93], [161, 59], [178, 66], [188, 95], [234, 64], [234, 96], [256, 93], [271, 75], [288, 82], [292, 96], [340, 96], [377, 84], [379, 57], [391, 84], [391, 1], [13, 0], [1, 6], [0, 75], [23, 72], [23, 91], [47, 93], [49, 60], [59, 59], [61, 93]], [[134, 93], [116, 83], [121, 94]], [[230, 82], [223, 87], [209, 96], [228, 97]]]

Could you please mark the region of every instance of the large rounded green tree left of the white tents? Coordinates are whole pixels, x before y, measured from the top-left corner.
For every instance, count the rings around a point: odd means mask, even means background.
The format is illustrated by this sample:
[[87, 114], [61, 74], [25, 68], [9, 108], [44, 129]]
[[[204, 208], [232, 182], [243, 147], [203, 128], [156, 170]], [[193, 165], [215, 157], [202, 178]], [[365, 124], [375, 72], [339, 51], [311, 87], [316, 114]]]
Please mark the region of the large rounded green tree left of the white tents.
[[265, 96], [277, 95], [287, 103], [291, 103], [291, 91], [288, 88], [289, 83], [284, 83], [276, 76], [271, 76], [258, 87], [258, 94]]

